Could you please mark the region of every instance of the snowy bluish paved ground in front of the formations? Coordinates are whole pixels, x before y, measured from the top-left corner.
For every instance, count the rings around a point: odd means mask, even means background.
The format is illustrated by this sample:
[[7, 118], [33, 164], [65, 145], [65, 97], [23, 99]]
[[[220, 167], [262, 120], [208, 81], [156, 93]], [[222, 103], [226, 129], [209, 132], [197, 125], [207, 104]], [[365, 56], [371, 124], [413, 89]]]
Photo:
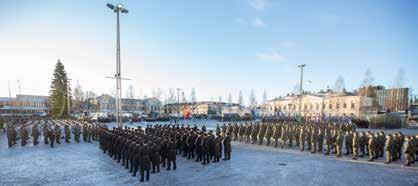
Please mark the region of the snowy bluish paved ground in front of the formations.
[[[30, 141], [31, 142], [31, 141]], [[7, 148], [0, 132], [0, 185], [138, 185], [139, 177], [103, 154], [98, 143], [41, 142]], [[231, 161], [203, 166], [177, 156], [177, 170], [151, 174], [141, 185], [418, 185], [418, 166], [311, 155], [233, 143]]]

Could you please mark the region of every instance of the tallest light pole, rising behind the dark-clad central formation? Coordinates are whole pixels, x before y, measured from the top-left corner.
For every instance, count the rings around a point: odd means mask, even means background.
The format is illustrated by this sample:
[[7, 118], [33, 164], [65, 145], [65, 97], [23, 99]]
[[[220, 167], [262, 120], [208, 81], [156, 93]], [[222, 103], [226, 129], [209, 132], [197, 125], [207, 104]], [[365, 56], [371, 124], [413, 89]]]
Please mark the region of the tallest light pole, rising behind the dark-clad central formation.
[[119, 14], [120, 13], [128, 13], [128, 10], [123, 8], [123, 5], [118, 4], [116, 6], [112, 4], [107, 4], [113, 12], [116, 13], [116, 124], [118, 127], [122, 127], [121, 121], [121, 110], [122, 110], [122, 103], [121, 103], [121, 96], [122, 96], [122, 82], [121, 82], [121, 65], [120, 65], [120, 26], [119, 26]]

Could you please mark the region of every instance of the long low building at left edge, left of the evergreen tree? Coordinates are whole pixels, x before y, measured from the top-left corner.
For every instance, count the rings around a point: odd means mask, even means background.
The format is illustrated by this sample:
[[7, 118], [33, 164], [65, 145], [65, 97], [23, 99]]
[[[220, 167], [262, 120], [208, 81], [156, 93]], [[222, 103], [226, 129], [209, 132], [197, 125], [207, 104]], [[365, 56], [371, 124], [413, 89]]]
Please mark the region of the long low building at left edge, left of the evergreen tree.
[[49, 96], [0, 97], [0, 115], [45, 115], [49, 113], [49, 107]]

